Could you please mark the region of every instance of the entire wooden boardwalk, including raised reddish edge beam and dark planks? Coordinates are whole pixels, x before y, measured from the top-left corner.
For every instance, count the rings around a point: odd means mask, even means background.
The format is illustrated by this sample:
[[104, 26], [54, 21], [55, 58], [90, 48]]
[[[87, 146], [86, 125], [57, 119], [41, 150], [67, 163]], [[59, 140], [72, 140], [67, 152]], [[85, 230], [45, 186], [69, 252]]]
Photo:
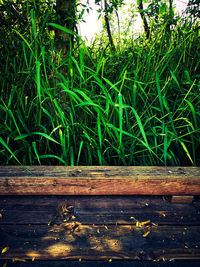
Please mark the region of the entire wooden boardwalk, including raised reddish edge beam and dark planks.
[[0, 167], [2, 266], [199, 266], [200, 197], [170, 196], [199, 168], [28, 169]]

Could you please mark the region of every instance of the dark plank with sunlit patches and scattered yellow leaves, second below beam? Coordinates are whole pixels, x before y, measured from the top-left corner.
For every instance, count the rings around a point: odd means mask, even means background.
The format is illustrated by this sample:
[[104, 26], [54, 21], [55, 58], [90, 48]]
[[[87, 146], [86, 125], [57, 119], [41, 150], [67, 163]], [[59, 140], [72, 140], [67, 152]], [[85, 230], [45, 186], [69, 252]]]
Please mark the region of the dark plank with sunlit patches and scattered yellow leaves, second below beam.
[[0, 259], [200, 260], [200, 227], [0, 226]]

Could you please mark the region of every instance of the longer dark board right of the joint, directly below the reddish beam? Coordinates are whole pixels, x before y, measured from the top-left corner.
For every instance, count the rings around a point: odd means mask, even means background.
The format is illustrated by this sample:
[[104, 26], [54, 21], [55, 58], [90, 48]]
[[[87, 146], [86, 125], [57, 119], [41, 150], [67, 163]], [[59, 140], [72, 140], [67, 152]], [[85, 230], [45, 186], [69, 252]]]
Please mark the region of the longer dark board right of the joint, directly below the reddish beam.
[[74, 213], [85, 224], [135, 224], [147, 221], [159, 225], [199, 225], [200, 200], [193, 204], [172, 204], [159, 196], [84, 196], [75, 199]]

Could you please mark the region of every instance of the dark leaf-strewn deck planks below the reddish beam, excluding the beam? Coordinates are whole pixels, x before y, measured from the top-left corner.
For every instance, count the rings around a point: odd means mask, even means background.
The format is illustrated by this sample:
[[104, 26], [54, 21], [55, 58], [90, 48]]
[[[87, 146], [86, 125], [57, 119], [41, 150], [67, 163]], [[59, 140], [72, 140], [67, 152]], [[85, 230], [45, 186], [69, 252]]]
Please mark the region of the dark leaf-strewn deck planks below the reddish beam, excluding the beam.
[[200, 261], [199, 197], [174, 204], [161, 196], [1, 196], [0, 213], [0, 251], [8, 248], [0, 260], [11, 266]]

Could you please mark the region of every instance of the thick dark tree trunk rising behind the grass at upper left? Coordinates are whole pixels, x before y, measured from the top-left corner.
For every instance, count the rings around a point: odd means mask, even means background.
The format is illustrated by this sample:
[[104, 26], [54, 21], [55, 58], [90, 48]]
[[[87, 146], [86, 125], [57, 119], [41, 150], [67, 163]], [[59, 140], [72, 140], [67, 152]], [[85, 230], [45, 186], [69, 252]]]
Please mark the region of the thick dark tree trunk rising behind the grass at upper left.
[[[56, 1], [57, 23], [71, 31], [74, 31], [76, 26], [75, 3], [76, 0]], [[58, 50], [62, 50], [62, 52], [66, 54], [74, 45], [74, 36], [56, 29], [55, 45]]]

